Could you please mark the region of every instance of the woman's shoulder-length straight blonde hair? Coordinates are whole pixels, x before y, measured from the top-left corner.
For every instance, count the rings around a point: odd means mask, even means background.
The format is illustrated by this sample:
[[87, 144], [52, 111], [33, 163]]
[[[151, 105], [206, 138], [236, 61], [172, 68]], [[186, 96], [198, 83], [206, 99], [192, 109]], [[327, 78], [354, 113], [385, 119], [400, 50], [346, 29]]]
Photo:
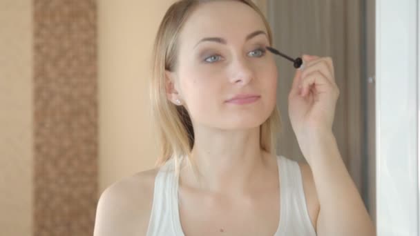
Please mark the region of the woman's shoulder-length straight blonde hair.
[[[187, 157], [189, 164], [194, 144], [194, 132], [191, 119], [183, 106], [175, 106], [166, 97], [165, 70], [176, 66], [178, 38], [182, 26], [200, 3], [216, 0], [181, 0], [173, 3], [164, 15], [153, 48], [153, 77], [150, 83], [152, 120], [157, 126], [161, 153], [155, 166], [160, 167], [169, 159], [175, 161], [175, 173], [179, 172], [182, 157]], [[253, 8], [262, 18], [267, 28], [269, 43], [272, 33], [264, 14], [251, 0], [236, 0]], [[280, 130], [280, 112], [276, 107], [269, 118], [260, 126], [260, 148], [269, 153], [276, 153], [276, 134]]]

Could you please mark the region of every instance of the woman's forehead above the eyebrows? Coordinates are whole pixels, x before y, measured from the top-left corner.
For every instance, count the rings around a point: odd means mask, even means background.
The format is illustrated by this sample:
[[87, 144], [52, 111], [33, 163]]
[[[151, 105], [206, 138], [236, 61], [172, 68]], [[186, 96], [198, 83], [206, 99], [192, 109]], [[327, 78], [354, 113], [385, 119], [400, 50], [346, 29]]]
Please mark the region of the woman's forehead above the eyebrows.
[[180, 32], [180, 41], [199, 41], [203, 37], [244, 40], [256, 30], [267, 32], [260, 15], [240, 1], [200, 3]]

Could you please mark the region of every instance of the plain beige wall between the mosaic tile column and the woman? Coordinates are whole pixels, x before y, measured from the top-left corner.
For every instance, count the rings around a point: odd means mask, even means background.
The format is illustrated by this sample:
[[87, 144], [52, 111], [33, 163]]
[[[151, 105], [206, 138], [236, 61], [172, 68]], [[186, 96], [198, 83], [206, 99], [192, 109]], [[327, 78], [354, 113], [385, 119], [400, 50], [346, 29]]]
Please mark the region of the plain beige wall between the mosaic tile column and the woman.
[[157, 158], [149, 113], [151, 48], [171, 3], [98, 1], [99, 193], [152, 168]]

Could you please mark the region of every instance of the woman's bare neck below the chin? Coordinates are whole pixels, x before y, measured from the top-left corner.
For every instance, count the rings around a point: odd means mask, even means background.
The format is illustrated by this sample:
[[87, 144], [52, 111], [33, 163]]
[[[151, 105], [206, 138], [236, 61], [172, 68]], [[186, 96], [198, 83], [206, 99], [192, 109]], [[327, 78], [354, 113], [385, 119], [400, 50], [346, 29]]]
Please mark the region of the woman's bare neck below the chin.
[[268, 166], [268, 153], [260, 149], [260, 128], [194, 132], [191, 158], [196, 166], [181, 172], [183, 184], [212, 192], [243, 192]]

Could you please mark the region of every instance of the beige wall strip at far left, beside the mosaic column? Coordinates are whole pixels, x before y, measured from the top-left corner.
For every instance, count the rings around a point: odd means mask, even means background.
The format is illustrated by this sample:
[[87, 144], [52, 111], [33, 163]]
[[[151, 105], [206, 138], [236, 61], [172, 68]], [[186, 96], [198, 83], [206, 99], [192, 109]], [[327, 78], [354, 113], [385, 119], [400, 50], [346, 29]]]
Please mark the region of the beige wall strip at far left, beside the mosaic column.
[[32, 232], [32, 1], [0, 1], [0, 234]]

